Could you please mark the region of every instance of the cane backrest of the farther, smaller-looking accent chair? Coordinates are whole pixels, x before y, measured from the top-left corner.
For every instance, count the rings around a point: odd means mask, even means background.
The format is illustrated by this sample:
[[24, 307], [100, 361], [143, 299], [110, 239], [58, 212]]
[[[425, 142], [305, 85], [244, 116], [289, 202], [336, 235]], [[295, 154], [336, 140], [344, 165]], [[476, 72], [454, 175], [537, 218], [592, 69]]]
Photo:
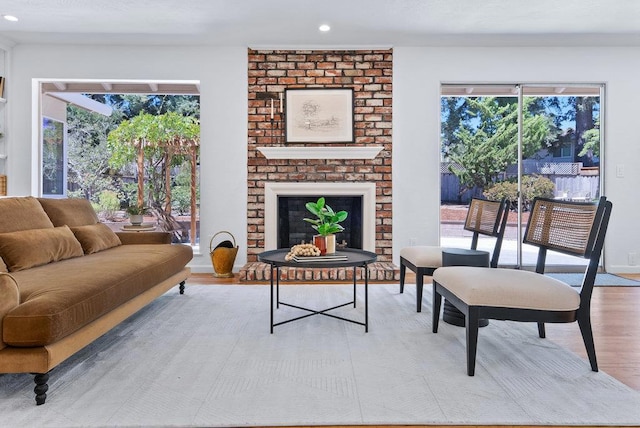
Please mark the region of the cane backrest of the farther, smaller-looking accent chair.
[[469, 204], [469, 211], [467, 211], [464, 229], [473, 232], [472, 250], [475, 250], [478, 246], [479, 235], [496, 238], [493, 256], [491, 257], [491, 267], [498, 266], [504, 229], [509, 215], [508, 206], [509, 202], [504, 198], [500, 201], [473, 198]]

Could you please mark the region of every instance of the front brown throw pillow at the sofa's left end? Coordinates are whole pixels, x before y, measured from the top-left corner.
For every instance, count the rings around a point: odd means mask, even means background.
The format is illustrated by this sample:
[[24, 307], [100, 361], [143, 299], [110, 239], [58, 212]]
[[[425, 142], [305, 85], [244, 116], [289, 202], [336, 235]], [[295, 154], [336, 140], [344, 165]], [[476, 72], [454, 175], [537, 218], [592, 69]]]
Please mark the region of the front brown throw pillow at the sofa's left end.
[[0, 233], [0, 256], [10, 272], [83, 254], [68, 226]]

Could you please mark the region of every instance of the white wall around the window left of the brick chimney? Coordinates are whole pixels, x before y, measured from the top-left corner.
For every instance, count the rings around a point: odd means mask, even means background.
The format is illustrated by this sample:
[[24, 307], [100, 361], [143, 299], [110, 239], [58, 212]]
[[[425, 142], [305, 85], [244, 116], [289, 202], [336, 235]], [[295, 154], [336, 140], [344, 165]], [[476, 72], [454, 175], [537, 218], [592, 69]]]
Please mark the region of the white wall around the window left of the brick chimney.
[[[220, 230], [246, 242], [246, 47], [16, 46], [11, 63], [8, 183], [29, 195], [32, 166], [33, 79], [199, 80], [201, 86], [201, 249], [194, 272], [211, 272], [209, 239]], [[36, 127], [37, 129], [37, 127]], [[37, 141], [36, 141], [37, 143]], [[37, 166], [37, 162], [35, 163]], [[35, 187], [37, 188], [37, 187]], [[240, 251], [236, 263], [246, 262]]]

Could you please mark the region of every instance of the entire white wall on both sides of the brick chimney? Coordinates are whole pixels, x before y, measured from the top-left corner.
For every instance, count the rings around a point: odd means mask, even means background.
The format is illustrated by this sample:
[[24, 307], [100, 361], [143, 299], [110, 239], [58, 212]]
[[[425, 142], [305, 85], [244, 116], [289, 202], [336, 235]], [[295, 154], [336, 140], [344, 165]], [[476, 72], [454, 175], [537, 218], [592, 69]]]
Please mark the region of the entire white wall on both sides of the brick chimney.
[[[247, 50], [239, 48], [17, 46], [12, 53], [9, 192], [31, 189], [33, 78], [198, 79], [201, 81], [201, 255], [211, 271], [209, 237], [231, 231], [246, 261]], [[605, 265], [640, 273], [637, 187], [640, 135], [638, 48], [394, 48], [394, 257], [410, 239], [439, 234], [439, 87], [441, 82], [605, 83], [604, 194], [614, 203]], [[625, 176], [615, 175], [616, 165]]]

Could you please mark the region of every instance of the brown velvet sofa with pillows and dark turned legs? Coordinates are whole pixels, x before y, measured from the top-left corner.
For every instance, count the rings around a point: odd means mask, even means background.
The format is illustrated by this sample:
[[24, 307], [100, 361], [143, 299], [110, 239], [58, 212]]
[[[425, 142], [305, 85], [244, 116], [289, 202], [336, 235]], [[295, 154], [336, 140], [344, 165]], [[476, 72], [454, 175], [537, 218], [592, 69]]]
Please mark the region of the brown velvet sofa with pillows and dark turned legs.
[[113, 232], [84, 199], [0, 199], [0, 373], [49, 371], [190, 275], [165, 232]]

